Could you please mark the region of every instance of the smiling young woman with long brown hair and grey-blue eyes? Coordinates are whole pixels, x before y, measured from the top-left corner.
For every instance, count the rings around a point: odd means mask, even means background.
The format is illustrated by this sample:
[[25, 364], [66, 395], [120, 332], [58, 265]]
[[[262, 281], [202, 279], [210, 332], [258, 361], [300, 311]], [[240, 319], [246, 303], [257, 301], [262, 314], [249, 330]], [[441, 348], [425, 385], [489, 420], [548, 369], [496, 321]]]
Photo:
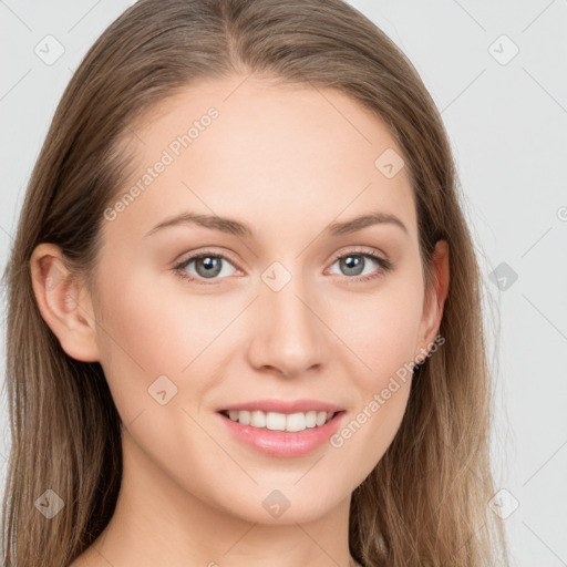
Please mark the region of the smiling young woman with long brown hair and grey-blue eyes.
[[450, 144], [347, 3], [128, 9], [4, 279], [7, 565], [503, 565]]

